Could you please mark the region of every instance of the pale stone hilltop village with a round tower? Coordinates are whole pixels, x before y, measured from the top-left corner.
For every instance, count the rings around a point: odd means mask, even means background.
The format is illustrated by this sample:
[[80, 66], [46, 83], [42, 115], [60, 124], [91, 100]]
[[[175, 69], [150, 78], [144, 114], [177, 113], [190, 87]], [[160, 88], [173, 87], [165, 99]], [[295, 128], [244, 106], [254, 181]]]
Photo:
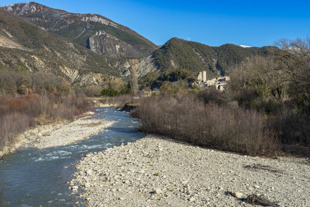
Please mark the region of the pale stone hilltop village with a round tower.
[[207, 80], [206, 71], [201, 71], [197, 73], [197, 81], [192, 83], [193, 85], [198, 85], [201, 87], [214, 87], [216, 90], [224, 90], [227, 81], [229, 81], [229, 76], [219, 76], [211, 80]]

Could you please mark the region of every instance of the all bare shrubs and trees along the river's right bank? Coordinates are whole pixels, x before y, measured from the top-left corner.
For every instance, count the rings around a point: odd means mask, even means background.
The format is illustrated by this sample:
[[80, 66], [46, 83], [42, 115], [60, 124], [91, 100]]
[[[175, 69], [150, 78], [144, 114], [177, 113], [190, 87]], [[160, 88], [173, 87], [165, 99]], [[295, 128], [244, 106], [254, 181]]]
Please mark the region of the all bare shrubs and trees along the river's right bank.
[[133, 112], [140, 129], [253, 156], [309, 155], [310, 38], [275, 44], [274, 55], [237, 64], [224, 92], [163, 87], [141, 98]]

